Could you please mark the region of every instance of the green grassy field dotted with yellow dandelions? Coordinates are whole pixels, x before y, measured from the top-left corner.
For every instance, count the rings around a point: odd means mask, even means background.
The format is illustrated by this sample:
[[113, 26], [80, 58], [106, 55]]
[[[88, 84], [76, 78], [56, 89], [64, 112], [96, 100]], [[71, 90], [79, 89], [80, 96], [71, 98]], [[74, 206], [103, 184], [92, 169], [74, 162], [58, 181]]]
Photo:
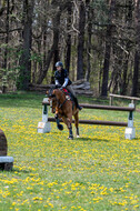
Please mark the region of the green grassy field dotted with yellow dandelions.
[[[134, 140], [124, 139], [124, 128], [101, 125], [80, 125], [80, 139], [68, 140], [66, 127], [61, 132], [54, 123], [50, 133], [37, 133], [42, 98], [0, 96], [0, 129], [14, 158], [13, 171], [0, 172], [0, 211], [140, 210], [140, 113]], [[128, 113], [82, 110], [80, 118], [127, 121]]]

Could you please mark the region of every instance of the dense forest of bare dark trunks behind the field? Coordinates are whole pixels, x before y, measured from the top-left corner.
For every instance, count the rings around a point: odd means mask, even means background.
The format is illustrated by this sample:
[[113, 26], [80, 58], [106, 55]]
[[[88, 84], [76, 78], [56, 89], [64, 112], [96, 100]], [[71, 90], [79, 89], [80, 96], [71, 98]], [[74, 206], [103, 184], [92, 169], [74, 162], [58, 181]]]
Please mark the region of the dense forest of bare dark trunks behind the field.
[[59, 60], [96, 96], [139, 96], [140, 0], [1, 0], [2, 91], [52, 83]]

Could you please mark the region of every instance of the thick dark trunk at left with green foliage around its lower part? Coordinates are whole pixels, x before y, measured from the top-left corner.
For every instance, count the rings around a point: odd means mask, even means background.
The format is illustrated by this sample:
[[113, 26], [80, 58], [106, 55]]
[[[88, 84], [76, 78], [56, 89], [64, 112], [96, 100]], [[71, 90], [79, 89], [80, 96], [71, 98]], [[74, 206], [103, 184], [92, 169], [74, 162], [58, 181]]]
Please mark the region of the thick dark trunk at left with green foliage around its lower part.
[[31, 82], [31, 41], [32, 41], [32, 14], [33, 1], [23, 1], [23, 44], [22, 54], [20, 58], [20, 76], [18, 88], [20, 90], [28, 90]]

